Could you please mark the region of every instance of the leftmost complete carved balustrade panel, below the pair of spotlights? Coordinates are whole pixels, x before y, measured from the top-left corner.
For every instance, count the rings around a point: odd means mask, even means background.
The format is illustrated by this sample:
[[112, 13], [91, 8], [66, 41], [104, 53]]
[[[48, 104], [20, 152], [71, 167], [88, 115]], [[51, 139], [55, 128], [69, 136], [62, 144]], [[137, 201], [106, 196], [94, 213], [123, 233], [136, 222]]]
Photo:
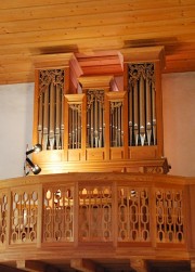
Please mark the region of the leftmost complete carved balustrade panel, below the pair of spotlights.
[[31, 186], [11, 192], [11, 244], [36, 243], [38, 192]]

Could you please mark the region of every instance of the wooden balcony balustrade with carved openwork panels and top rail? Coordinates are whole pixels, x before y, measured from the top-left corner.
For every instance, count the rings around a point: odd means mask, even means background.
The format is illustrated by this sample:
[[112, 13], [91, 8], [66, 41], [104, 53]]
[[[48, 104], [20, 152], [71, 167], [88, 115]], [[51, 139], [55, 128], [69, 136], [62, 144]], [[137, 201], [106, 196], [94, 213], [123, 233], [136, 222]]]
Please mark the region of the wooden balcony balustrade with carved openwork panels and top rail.
[[2, 181], [0, 248], [96, 242], [186, 248], [190, 186], [182, 178], [128, 173]]

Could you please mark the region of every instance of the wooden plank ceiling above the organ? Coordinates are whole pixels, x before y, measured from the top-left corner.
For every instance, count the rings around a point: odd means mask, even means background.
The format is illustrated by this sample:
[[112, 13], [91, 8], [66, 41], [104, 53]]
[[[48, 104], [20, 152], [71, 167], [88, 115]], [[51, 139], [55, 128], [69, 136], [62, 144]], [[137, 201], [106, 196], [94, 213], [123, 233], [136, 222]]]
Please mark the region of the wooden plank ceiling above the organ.
[[36, 55], [148, 46], [165, 46], [165, 73], [195, 70], [195, 1], [1, 1], [0, 85], [34, 81]]

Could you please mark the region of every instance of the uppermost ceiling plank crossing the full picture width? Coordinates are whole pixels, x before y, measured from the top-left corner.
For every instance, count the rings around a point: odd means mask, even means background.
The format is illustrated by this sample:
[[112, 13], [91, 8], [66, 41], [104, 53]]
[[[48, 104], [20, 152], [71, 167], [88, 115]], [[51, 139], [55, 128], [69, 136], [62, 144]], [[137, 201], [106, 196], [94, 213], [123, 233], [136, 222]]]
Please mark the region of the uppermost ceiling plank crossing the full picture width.
[[[62, 3], [46, 5], [42, 3], [42, 7], [27, 7], [18, 9], [1, 9], [0, 10], [0, 22], [13, 22], [13, 21], [24, 21], [24, 20], [36, 20], [36, 18], [53, 18], [62, 16], [66, 18], [70, 14], [73, 16], [78, 15], [89, 15], [89, 14], [109, 14], [113, 12], [122, 12], [122, 11], [150, 11], [150, 13], [157, 13], [161, 9], [172, 9], [172, 8], [182, 8], [187, 7], [186, 4], [180, 4], [179, 1], [136, 1], [129, 3], [128, 0], [107, 0], [106, 5], [103, 4], [104, 0], [94, 0], [75, 3]], [[191, 4], [191, 8], [193, 4]], [[18, 12], [17, 12], [18, 10]], [[55, 13], [53, 13], [55, 11]], [[55, 14], [55, 15], [54, 15]]]

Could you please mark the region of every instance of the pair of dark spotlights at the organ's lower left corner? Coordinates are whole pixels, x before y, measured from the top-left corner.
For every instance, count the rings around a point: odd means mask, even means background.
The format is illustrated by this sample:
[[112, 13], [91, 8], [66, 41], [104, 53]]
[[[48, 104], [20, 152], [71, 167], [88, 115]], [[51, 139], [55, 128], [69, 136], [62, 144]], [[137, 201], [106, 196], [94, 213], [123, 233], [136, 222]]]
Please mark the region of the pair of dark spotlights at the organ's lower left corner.
[[28, 158], [28, 155], [31, 153], [39, 153], [42, 151], [41, 144], [36, 144], [32, 146], [31, 150], [26, 151], [26, 160], [25, 160], [25, 166], [24, 166], [24, 172], [25, 176], [28, 176], [30, 171], [32, 171], [34, 174], [38, 174], [41, 171], [41, 168], [38, 165], [35, 165], [31, 159]]

